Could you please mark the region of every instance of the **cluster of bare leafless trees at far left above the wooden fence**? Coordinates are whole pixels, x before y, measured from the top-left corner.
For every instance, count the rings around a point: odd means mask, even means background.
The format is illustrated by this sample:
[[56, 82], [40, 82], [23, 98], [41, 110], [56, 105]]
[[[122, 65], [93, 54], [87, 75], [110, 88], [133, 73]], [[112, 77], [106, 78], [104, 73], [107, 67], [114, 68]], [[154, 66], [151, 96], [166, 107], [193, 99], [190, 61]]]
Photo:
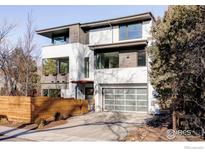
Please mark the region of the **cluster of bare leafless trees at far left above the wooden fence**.
[[[6, 22], [5, 22], [6, 23]], [[37, 60], [32, 56], [36, 49], [32, 14], [28, 14], [23, 38], [13, 47], [8, 36], [15, 28], [12, 24], [0, 26], [0, 73], [4, 77], [4, 95], [32, 95], [40, 84]]]

